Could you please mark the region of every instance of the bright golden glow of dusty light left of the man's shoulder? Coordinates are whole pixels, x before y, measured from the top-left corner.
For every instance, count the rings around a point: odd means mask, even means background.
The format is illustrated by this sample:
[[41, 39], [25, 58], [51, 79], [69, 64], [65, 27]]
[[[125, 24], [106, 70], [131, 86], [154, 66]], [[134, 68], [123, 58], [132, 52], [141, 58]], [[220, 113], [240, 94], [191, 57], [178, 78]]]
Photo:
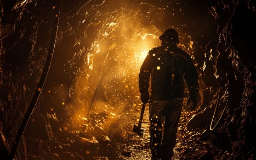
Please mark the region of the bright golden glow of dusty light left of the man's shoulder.
[[[79, 93], [77, 94], [79, 104], [76, 105], [81, 106], [81, 109], [74, 114], [77, 123], [81, 119], [77, 117], [78, 114], [86, 117], [88, 108], [91, 111], [106, 109], [111, 117], [119, 116], [118, 110], [112, 110], [113, 107], [108, 101], [118, 99], [129, 103], [128, 97], [138, 91], [138, 74], [148, 51], [160, 45], [159, 35], [162, 32], [154, 26], [142, 26], [140, 22], [131, 23], [134, 15], [129, 14], [120, 12], [101, 21], [100, 25], [94, 24], [99, 28], [91, 47], [85, 51], [84, 68], [87, 70], [77, 74], [74, 87], [76, 90], [74, 92]], [[101, 93], [101, 97], [105, 95], [107, 102], [97, 100], [91, 102], [95, 92], [97, 95], [98, 84], [104, 92]], [[135, 103], [131, 105], [137, 106]]]

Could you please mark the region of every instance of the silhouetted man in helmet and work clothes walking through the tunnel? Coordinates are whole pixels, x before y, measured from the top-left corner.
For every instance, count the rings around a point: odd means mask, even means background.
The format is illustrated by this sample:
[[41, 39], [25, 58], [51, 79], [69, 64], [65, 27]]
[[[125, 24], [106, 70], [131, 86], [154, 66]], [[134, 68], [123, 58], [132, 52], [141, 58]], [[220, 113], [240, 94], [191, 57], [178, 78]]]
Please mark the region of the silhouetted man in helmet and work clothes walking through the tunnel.
[[176, 30], [167, 29], [159, 39], [161, 46], [151, 49], [141, 66], [139, 89], [142, 102], [150, 101], [151, 160], [171, 160], [182, 111], [184, 80], [192, 101], [190, 109], [193, 110], [197, 106], [198, 73], [188, 53], [177, 47]]

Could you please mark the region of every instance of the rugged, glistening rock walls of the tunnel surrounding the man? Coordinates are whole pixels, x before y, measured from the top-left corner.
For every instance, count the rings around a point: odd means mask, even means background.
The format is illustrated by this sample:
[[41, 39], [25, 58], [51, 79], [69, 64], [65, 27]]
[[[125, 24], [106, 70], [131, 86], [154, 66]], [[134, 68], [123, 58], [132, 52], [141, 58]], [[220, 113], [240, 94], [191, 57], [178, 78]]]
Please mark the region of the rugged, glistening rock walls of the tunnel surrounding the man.
[[[52, 35], [53, 8], [47, 3], [0, 0], [0, 154], [11, 149], [38, 90]], [[130, 143], [136, 140], [130, 131], [140, 108], [137, 72], [141, 53], [147, 54], [159, 44], [161, 32], [174, 27], [180, 47], [194, 58], [201, 87], [201, 106], [189, 122], [192, 114], [184, 112], [180, 129], [207, 130], [204, 140], [233, 159], [256, 158], [254, 1], [62, 3], [51, 69], [19, 157], [108, 160], [112, 154], [136, 159], [134, 152], [148, 152], [147, 139], [143, 147]], [[180, 137], [193, 139], [191, 134]], [[218, 154], [208, 144], [201, 147], [207, 149], [190, 155], [210, 159]], [[121, 149], [125, 151], [119, 153]]]

